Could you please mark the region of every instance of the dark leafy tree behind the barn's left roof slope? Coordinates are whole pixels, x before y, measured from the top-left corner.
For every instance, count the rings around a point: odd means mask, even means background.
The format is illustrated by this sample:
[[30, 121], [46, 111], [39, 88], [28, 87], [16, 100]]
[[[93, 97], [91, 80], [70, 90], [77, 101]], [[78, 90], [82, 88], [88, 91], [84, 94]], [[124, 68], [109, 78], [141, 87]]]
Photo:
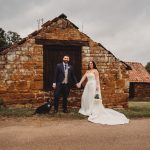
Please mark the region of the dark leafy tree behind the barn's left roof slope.
[[7, 33], [0, 28], [0, 51], [5, 48], [10, 47], [14, 43], [17, 43], [21, 40], [21, 37], [18, 33], [13, 31], [8, 31]]

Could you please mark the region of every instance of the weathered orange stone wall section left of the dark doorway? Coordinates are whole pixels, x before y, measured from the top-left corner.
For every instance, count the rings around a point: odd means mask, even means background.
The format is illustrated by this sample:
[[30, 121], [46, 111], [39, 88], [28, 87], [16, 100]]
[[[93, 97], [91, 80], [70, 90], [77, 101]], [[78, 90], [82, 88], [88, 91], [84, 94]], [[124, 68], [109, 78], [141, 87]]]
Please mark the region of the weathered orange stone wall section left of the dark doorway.
[[[36, 103], [43, 89], [43, 49], [27, 40], [0, 57], [0, 97], [7, 104]], [[43, 100], [43, 96], [41, 97]]]

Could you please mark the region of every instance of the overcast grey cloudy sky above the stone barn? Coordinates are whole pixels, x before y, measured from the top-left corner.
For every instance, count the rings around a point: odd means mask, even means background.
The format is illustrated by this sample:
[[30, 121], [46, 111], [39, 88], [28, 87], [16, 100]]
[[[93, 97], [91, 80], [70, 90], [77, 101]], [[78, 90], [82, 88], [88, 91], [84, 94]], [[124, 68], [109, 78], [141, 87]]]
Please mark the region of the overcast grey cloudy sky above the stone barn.
[[0, 28], [23, 38], [62, 13], [120, 60], [150, 62], [150, 0], [0, 0]]

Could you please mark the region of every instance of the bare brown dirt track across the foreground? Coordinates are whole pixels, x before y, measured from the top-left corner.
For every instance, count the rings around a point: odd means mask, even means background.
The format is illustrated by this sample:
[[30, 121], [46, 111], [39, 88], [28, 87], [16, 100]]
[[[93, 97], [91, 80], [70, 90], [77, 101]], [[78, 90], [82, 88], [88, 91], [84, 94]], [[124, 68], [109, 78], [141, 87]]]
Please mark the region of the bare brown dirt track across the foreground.
[[42, 117], [0, 118], [0, 150], [150, 150], [150, 118], [126, 125]]

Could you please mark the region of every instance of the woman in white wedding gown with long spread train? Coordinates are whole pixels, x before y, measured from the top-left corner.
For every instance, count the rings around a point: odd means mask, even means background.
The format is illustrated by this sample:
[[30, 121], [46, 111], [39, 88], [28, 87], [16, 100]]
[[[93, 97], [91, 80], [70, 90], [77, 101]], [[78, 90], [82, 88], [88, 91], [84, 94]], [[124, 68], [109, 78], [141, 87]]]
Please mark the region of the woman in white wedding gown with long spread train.
[[[88, 64], [88, 71], [84, 74], [78, 87], [81, 87], [82, 82], [88, 79], [81, 98], [80, 114], [88, 117], [88, 121], [93, 123], [117, 125], [129, 123], [129, 119], [124, 114], [119, 113], [113, 109], [105, 108], [102, 104], [99, 73], [94, 61], [90, 61]], [[98, 94], [99, 100], [95, 99], [95, 95]]]

